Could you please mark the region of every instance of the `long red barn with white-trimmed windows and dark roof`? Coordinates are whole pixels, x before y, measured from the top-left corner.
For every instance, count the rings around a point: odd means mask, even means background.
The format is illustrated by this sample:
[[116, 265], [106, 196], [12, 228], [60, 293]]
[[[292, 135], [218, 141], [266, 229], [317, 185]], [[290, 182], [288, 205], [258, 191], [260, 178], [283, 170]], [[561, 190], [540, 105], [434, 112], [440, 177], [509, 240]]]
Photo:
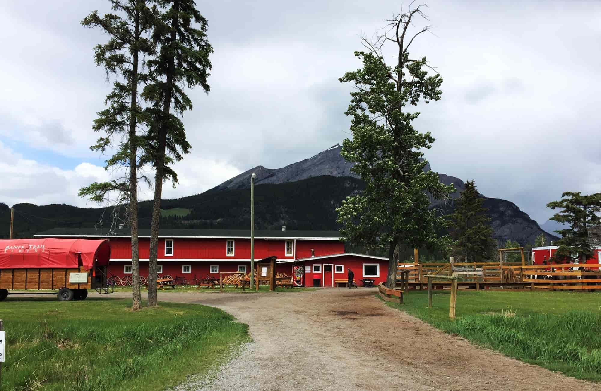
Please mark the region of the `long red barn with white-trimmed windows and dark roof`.
[[[132, 274], [132, 248], [129, 230], [112, 233], [96, 229], [56, 228], [35, 235], [38, 238], [109, 239], [111, 262], [108, 271], [118, 277]], [[148, 276], [150, 229], [139, 230], [140, 275]], [[292, 275], [293, 265], [305, 271], [305, 286], [336, 286], [347, 279], [347, 269], [355, 280], [364, 278], [385, 282], [388, 259], [344, 253], [338, 231], [255, 230], [255, 261], [276, 256], [276, 271]], [[218, 277], [219, 272], [250, 272], [249, 230], [160, 229], [158, 273], [186, 279]], [[319, 281], [318, 281], [319, 280]], [[361, 286], [361, 283], [359, 283]]]

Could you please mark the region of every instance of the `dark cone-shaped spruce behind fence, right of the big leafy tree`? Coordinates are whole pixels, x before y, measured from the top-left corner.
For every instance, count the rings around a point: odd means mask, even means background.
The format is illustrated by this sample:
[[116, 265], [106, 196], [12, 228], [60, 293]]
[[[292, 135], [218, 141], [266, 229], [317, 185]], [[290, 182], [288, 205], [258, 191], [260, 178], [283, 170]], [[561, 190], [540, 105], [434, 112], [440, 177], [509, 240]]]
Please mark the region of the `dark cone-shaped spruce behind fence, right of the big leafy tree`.
[[465, 183], [465, 190], [456, 200], [456, 208], [449, 215], [451, 237], [456, 239], [452, 254], [465, 262], [490, 259], [495, 246], [484, 198], [478, 194], [474, 180]]

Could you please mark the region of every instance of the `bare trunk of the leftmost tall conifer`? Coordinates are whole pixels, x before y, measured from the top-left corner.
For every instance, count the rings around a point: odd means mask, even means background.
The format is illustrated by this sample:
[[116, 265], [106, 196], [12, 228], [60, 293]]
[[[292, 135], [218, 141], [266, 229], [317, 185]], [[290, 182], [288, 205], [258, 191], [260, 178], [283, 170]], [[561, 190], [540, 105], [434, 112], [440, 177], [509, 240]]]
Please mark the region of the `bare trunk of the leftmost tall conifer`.
[[[136, 12], [135, 41], [139, 40], [139, 11]], [[132, 309], [142, 307], [140, 295], [140, 259], [138, 248], [138, 161], [136, 143], [136, 111], [138, 109], [138, 50], [133, 51], [132, 103], [129, 119], [129, 225], [132, 230]]]

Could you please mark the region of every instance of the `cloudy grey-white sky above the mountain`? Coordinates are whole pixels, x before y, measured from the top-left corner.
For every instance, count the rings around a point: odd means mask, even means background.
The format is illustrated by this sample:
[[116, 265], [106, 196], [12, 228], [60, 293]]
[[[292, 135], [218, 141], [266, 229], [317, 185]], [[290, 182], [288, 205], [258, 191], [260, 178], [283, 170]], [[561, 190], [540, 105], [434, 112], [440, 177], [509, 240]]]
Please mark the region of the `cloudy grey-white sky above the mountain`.
[[[359, 66], [358, 35], [401, 4], [197, 1], [215, 48], [211, 92], [190, 93], [183, 121], [193, 150], [165, 196], [259, 164], [282, 167], [348, 137], [352, 87], [338, 78]], [[434, 34], [412, 52], [444, 78], [442, 100], [420, 107], [415, 124], [436, 137], [426, 154], [433, 170], [475, 179], [540, 223], [562, 191], [601, 191], [601, 2], [428, 5]], [[94, 9], [108, 11], [108, 1], [0, 2], [0, 202], [95, 206], [76, 196], [108, 176], [105, 156], [89, 150], [111, 89], [93, 61], [106, 36], [79, 24]]]

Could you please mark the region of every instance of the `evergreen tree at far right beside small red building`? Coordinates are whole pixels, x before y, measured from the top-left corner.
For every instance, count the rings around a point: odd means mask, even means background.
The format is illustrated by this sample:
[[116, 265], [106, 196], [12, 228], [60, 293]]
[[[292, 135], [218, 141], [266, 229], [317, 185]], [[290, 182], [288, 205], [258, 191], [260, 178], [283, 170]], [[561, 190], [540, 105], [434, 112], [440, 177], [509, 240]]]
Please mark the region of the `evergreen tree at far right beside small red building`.
[[566, 229], [555, 231], [562, 238], [556, 242], [559, 248], [554, 258], [560, 262], [579, 260], [585, 263], [594, 255], [588, 230], [601, 223], [601, 193], [583, 196], [580, 192], [566, 191], [561, 194], [561, 200], [549, 202], [547, 208], [562, 209], [549, 220], [568, 226]]

